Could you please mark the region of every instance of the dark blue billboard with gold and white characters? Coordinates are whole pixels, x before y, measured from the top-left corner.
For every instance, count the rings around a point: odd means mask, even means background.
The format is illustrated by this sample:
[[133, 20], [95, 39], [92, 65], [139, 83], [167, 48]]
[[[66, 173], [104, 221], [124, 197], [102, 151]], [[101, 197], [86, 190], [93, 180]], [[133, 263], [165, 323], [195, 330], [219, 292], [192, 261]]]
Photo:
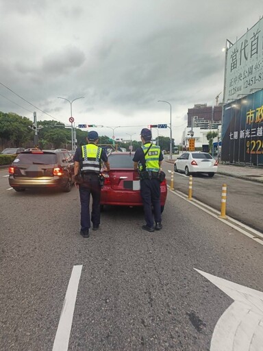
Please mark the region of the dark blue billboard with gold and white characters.
[[263, 90], [223, 108], [221, 160], [263, 166]]

